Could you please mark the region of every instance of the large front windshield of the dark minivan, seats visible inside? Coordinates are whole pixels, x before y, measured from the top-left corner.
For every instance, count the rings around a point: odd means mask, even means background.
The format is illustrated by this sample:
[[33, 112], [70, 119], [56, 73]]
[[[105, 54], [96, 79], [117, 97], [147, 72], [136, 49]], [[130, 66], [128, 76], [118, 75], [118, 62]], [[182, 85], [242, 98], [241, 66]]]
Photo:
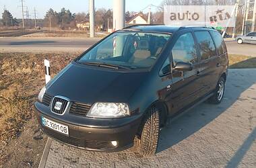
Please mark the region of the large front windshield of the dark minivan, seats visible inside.
[[169, 38], [170, 34], [116, 32], [80, 56], [77, 62], [114, 69], [148, 69]]

